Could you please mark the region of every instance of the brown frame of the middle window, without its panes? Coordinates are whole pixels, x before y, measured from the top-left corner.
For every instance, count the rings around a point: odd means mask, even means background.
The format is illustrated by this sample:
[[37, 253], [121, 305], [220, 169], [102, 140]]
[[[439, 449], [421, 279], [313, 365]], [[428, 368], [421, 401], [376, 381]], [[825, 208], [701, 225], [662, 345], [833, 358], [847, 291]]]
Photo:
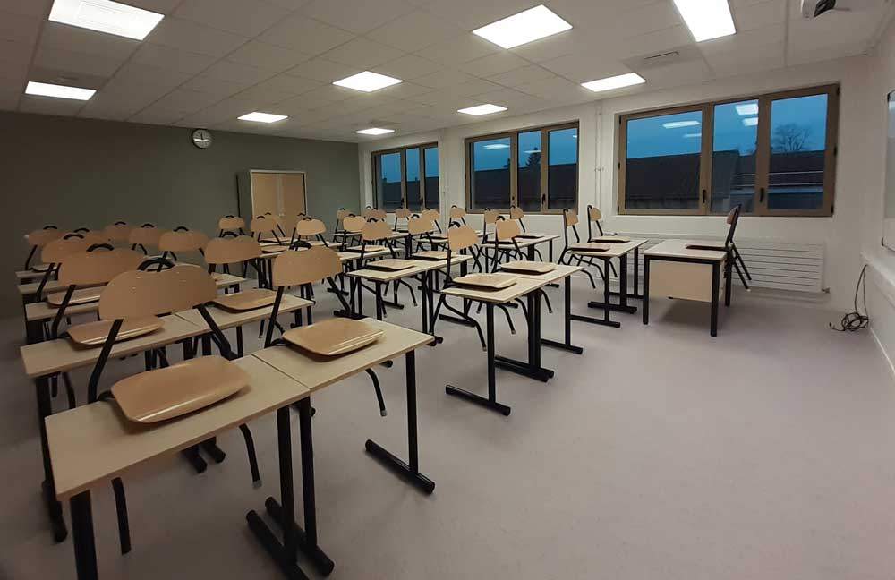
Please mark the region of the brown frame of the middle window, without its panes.
[[[538, 211], [526, 211], [526, 215], [560, 215], [562, 209], [550, 208], [550, 192], [549, 192], [549, 168], [550, 168], [550, 132], [563, 129], [575, 129], [578, 133], [578, 141], [575, 143], [575, 211], [578, 205], [578, 193], [580, 185], [579, 169], [581, 164], [581, 127], [580, 122], [567, 121], [565, 123], [550, 125], [535, 125], [533, 127], [522, 127], [511, 131], [488, 133], [484, 135], [474, 135], [467, 137], [463, 141], [464, 147], [464, 166], [465, 166], [465, 183], [466, 183], [466, 213], [481, 214], [485, 209], [473, 209], [473, 167], [470, 162], [473, 161], [471, 154], [471, 146], [479, 141], [491, 141], [493, 139], [509, 139], [509, 203], [511, 206], [519, 205], [519, 134], [526, 132], [541, 132], [541, 209]], [[496, 209], [500, 212], [507, 213], [509, 208], [489, 208]]]

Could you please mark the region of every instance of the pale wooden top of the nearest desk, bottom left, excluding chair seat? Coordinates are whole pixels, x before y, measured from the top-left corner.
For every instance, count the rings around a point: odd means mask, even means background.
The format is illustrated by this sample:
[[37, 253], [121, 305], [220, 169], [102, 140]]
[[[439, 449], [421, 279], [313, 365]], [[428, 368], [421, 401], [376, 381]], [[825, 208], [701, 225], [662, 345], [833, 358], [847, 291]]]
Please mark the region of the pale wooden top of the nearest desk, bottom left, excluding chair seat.
[[128, 421], [113, 401], [82, 405], [47, 417], [56, 498], [70, 499], [133, 467], [173, 455], [310, 395], [302, 384], [252, 356], [234, 363], [249, 374], [247, 388], [171, 421]]

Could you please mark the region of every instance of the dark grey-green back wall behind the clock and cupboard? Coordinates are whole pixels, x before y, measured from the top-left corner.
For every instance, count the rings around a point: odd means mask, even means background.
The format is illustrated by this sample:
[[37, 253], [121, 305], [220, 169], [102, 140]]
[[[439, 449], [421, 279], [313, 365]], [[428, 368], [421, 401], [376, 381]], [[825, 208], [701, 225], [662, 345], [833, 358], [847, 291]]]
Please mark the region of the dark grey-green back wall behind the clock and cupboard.
[[0, 112], [0, 315], [21, 313], [13, 272], [28, 253], [22, 235], [55, 224], [102, 228], [116, 219], [217, 233], [236, 214], [236, 173], [307, 173], [308, 213], [328, 227], [340, 207], [360, 207], [357, 145], [212, 131], [197, 149], [192, 129]]

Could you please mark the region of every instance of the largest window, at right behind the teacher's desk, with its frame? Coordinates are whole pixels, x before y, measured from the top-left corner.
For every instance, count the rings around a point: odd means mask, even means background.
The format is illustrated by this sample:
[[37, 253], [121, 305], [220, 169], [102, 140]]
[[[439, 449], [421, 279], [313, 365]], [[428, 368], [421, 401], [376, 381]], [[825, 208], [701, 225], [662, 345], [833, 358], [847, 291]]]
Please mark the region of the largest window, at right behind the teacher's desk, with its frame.
[[618, 210], [830, 216], [839, 87], [619, 118]]

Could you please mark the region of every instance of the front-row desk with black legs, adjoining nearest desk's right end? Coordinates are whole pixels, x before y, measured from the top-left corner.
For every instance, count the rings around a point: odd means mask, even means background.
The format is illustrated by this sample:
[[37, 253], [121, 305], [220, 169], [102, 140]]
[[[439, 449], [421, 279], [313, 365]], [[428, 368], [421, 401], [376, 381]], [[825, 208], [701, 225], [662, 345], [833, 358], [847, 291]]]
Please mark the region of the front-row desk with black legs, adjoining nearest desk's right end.
[[[372, 345], [332, 358], [305, 354], [290, 346], [279, 345], [258, 351], [254, 356], [267, 362], [277, 371], [283, 372], [297, 380], [314, 395], [323, 388], [345, 380], [356, 374], [368, 371], [382, 362], [405, 355], [405, 380], [407, 388], [407, 448], [408, 462], [390, 453], [371, 439], [367, 439], [365, 448], [388, 470], [412, 484], [425, 493], [435, 490], [435, 482], [420, 473], [419, 467], [419, 440], [417, 435], [416, 420], [416, 349], [432, 342], [432, 337], [409, 328], [402, 328], [394, 324], [388, 324], [381, 320], [365, 319], [364, 322], [383, 329], [383, 336]], [[314, 471], [313, 471], [313, 445], [311, 439], [311, 413], [310, 399], [303, 401], [300, 408], [299, 420], [302, 438], [302, 482], [304, 499], [304, 530], [296, 527], [296, 535], [299, 538], [299, 548], [311, 559], [320, 573], [326, 575], [333, 567], [332, 561], [320, 550], [317, 542], [317, 524], [314, 500]], [[268, 513], [274, 521], [281, 521], [281, 507], [273, 498], [265, 502]], [[257, 516], [256, 516], [257, 517]], [[288, 519], [288, 517], [286, 517]], [[251, 523], [251, 521], [250, 521]], [[256, 519], [256, 525], [267, 530], [267, 525]], [[269, 533], [269, 531], [268, 531]], [[265, 542], [265, 547], [272, 556], [277, 558], [277, 550], [282, 550], [279, 542], [273, 539]]]

